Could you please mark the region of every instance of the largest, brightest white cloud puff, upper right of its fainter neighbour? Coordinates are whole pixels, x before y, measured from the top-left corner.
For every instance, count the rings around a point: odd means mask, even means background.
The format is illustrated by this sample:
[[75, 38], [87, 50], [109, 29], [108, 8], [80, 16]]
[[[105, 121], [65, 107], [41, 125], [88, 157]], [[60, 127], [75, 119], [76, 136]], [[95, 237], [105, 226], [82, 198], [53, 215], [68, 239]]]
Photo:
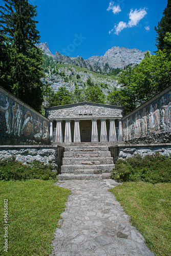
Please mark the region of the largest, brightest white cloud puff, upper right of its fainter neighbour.
[[134, 26], [136, 26], [139, 21], [147, 14], [145, 8], [144, 9], [135, 9], [135, 11], [133, 12], [133, 9], [131, 9], [130, 13], [129, 13], [129, 17], [130, 17], [130, 21], [127, 24], [128, 27], [132, 28]]

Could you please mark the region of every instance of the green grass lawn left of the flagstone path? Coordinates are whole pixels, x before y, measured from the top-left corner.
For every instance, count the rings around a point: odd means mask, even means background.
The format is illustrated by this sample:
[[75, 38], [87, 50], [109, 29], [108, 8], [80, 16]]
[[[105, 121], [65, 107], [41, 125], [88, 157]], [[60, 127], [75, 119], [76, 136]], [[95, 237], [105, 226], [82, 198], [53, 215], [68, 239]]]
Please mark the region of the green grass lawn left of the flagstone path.
[[[0, 181], [0, 255], [47, 256], [70, 191], [54, 181]], [[8, 199], [8, 252], [4, 251], [4, 199]]]

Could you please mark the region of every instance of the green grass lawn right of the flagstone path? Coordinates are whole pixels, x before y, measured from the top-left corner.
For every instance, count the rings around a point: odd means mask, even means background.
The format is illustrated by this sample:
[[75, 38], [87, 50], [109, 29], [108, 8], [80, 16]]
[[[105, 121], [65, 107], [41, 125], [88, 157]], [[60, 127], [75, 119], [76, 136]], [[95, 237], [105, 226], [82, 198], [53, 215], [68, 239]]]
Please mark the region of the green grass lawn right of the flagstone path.
[[171, 184], [126, 182], [111, 189], [155, 255], [171, 255]]

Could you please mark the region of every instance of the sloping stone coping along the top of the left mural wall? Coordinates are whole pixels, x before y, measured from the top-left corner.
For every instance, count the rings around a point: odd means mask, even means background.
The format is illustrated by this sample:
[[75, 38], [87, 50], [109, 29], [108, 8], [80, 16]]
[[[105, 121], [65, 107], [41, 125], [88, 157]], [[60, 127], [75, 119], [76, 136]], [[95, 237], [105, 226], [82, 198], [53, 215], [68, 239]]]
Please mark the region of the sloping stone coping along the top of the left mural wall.
[[35, 113], [36, 115], [44, 118], [46, 121], [49, 121], [49, 119], [43, 115], [41, 115], [39, 112], [37, 112], [36, 110], [34, 110], [33, 108], [31, 108], [31, 106], [29, 106], [27, 103], [25, 103], [24, 101], [20, 100], [19, 98], [17, 98], [16, 96], [14, 96], [13, 94], [11, 94], [10, 92], [8, 92], [6, 89], [2, 88], [0, 86], [0, 92], [5, 94], [6, 96], [8, 96], [9, 98], [13, 99], [14, 101], [16, 101], [17, 103], [19, 103], [20, 105], [24, 106], [26, 109], [30, 110], [31, 112]]

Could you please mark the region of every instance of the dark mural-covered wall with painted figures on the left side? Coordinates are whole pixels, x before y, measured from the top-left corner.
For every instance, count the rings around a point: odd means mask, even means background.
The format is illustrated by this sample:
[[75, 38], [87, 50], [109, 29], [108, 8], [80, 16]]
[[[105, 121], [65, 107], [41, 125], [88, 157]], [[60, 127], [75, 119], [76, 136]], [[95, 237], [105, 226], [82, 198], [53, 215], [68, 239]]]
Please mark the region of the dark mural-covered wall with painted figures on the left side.
[[49, 119], [0, 87], [0, 144], [49, 144]]

